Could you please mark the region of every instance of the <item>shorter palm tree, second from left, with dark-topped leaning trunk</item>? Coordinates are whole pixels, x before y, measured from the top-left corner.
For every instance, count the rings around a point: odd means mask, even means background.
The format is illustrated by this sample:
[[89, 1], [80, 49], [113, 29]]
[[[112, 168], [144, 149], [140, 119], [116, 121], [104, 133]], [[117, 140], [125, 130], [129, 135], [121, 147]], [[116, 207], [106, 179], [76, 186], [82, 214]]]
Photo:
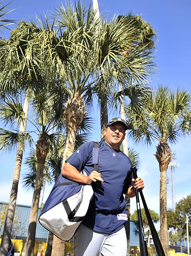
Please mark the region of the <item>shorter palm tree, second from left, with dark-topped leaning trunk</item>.
[[[36, 172], [36, 180], [34, 184], [34, 194], [32, 199], [32, 207], [31, 214], [29, 220], [29, 229], [26, 243], [26, 254], [33, 255], [34, 250], [34, 242], [35, 242], [35, 231], [36, 231], [36, 222], [37, 222], [37, 213], [38, 213], [38, 205], [40, 192], [43, 184], [43, 172], [45, 167], [45, 160], [49, 149], [51, 150], [51, 146], [54, 143], [57, 143], [57, 138], [59, 135], [59, 129], [57, 132], [55, 131], [55, 119], [57, 121], [57, 112], [52, 106], [54, 105], [54, 98], [51, 98], [51, 95], [48, 94], [45, 90], [45, 87], [39, 91], [39, 88], [36, 94], [32, 95], [32, 106], [34, 106], [34, 117], [37, 120], [30, 120], [33, 124], [36, 123], [37, 128], [37, 136], [38, 141], [36, 143], [36, 158], [37, 158], [37, 172]], [[12, 111], [12, 121], [15, 121], [13, 116], [16, 116], [18, 119], [22, 120], [24, 113], [22, 109], [19, 108], [20, 105], [14, 102], [7, 102], [6, 104], [1, 104], [1, 113], [4, 114], [4, 119], [10, 119], [10, 112]], [[15, 107], [11, 109], [11, 107]], [[16, 107], [18, 107], [16, 111]], [[13, 115], [14, 114], [14, 115]], [[56, 118], [55, 118], [56, 117]], [[28, 118], [29, 119], [29, 118]], [[62, 120], [60, 121], [62, 122]], [[5, 148], [9, 141], [14, 139], [15, 133], [8, 132], [6, 130], [2, 130], [1, 133], [1, 147]], [[20, 134], [20, 133], [19, 133]], [[25, 133], [22, 133], [23, 137], [26, 137]], [[28, 135], [29, 136], [29, 135]], [[19, 138], [19, 136], [18, 136]], [[14, 141], [14, 140], [13, 140]], [[17, 141], [15, 139], [15, 141]], [[31, 140], [32, 141], [32, 140]], [[12, 142], [12, 141], [11, 141]]]

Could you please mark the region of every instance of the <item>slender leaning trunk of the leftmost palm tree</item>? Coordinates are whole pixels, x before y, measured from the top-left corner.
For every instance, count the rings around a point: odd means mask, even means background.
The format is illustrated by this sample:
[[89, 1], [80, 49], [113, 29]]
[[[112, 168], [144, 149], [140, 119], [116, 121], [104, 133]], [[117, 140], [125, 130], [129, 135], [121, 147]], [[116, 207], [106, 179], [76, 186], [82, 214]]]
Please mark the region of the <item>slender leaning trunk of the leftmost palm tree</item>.
[[[26, 96], [24, 107], [23, 107], [23, 111], [25, 113], [26, 119], [20, 125], [21, 133], [22, 132], [24, 133], [26, 130], [28, 109], [29, 109], [29, 98]], [[4, 226], [4, 230], [3, 230], [2, 241], [0, 244], [0, 255], [1, 256], [7, 256], [9, 241], [11, 238], [11, 232], [12, 232], [12, 228], [13, 228], [13, 219], [14, 219], [14, 213], [15, 213], [15, 207], [16, 207], [16, 201], [17, 201], [20, 168], [21, 168], [21, 162], [22, 162], [22, 158], [23, 158], [23, 150], [24, 150], [24, 145], [21, 145], [20, 143], [18, 143], [14, 173], [13, 173], [13, 183], [12, 183], [12, 188], [11, 188], [11, 195], [10, 195], [9, 205], [8, 205], [7, 214], [6, 214], [6, 221], [5, 221], [5, 226]]]

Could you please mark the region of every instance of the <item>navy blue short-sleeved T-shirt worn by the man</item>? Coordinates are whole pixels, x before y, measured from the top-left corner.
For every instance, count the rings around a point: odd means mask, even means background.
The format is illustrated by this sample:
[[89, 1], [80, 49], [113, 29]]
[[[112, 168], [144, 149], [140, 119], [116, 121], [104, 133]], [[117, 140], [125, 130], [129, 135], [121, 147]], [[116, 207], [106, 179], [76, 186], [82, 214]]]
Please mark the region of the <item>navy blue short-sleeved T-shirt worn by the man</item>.
[[[92, 148], [94, 142], [80, 146], [67, 160], [79, 172], [87, 175], [93, 170]], [[124, 194], [133, 174], [132, 163], [121, 150], [115, 150], [104, 141], [99, 142], [99, 172], [103, 182], [92, 182], [94, 199], [83, 220], [83, 224], [100, 233], [112, 234], [120, 230], [126, 222], [126, 202]]]

